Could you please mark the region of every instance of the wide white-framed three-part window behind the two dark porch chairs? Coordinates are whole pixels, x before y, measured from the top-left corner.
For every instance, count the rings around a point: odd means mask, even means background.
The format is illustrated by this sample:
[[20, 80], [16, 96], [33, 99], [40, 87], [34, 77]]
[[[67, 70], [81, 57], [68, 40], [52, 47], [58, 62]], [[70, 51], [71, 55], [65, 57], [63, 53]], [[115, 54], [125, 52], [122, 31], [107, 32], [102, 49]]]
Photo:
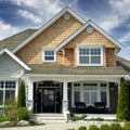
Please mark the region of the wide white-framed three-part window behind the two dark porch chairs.
[[107, 82], [74, 82], [72, 91], [72, 106], [76, 102], [84, 102], [87, 106], [95, 102], [103, 102], [109, 107], [109, 89]]

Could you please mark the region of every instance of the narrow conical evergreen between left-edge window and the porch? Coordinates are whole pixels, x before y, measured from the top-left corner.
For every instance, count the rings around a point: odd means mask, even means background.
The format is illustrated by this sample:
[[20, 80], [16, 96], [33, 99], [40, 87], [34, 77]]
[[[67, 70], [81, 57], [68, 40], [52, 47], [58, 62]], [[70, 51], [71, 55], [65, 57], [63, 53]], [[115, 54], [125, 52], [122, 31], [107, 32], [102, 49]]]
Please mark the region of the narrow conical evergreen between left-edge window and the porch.
[[26, 96], [25, 96], [25, 83], [22, 80], [20, 83], [18, 99], [17, 99], [17, 108], [26, 107]]

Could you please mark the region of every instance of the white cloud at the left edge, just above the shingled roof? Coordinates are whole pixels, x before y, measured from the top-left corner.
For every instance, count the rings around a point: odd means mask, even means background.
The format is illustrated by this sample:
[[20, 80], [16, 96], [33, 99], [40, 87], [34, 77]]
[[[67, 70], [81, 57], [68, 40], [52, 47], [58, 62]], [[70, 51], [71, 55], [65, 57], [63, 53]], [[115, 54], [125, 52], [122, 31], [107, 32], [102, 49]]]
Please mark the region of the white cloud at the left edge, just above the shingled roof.
[[10, 24], [4, 23], [3, 21], [0, 21], [0, 40], [6, 38], [6, 36], [12, 36], [16, 34], [18, 28], [15, 28], [11, 26]]

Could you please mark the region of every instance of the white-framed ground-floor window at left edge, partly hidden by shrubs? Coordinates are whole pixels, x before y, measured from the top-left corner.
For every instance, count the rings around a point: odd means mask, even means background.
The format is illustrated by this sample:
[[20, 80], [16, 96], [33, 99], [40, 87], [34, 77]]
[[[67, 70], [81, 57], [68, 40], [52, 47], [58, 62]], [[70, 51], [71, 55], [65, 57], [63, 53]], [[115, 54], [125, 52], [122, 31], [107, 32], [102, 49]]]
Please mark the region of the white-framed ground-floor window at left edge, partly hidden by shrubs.
[[15, 98], [16, 81], [0, 81], [0, 105]]

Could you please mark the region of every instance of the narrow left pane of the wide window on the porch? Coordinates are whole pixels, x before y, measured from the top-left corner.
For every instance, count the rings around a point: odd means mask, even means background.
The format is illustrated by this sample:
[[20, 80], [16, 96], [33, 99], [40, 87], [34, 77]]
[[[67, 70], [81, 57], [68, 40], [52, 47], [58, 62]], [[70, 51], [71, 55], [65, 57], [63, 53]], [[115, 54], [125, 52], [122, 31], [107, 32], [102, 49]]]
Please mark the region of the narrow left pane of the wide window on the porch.
[[74, 83], [74, 102], [80, 102], [80, 83]]

